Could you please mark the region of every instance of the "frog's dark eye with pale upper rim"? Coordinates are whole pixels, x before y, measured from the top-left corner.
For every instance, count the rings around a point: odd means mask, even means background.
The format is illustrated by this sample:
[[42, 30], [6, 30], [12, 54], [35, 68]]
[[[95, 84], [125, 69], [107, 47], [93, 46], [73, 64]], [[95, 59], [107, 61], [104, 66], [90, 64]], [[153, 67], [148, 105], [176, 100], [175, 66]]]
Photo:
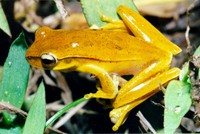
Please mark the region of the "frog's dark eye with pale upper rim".
[[57, 58], [53, 54], [42, 54], [41, 55], [41, 62], [43, 67], [51, 68], [54, 67], [57, 63]]

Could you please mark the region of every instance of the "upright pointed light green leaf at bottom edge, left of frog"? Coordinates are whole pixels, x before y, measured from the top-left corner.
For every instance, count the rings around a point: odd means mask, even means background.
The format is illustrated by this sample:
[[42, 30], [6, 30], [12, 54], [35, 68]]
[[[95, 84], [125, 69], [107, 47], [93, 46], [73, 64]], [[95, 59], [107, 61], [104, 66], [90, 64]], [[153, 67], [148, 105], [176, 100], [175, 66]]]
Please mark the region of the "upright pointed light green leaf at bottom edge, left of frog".
[[28, 113], [23, 134], [43, 134], [46, 121], [45, 89], [41, 83]]

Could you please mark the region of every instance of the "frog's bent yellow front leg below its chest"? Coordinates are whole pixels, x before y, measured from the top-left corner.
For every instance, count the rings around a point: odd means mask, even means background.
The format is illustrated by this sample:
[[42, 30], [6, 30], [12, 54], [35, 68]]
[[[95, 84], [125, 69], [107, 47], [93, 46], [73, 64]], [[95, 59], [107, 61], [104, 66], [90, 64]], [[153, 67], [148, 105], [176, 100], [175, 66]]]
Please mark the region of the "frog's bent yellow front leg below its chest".
[[96, 93], [86, 94], [85, 98], [113, 99], [116, 96], [118, 91], [117, 77], [112, 79], [106, 70], [92, 64], [81, 66], [77, 70], [94, 74], [101, 83], [101, 88], [97, 88], [98, 91]]

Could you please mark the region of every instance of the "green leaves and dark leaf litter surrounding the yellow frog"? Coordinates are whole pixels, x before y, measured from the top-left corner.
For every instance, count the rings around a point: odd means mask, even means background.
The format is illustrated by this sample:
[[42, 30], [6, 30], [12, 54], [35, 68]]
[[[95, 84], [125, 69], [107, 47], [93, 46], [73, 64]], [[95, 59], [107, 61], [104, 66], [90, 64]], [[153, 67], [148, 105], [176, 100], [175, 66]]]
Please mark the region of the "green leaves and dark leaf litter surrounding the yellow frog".
[[[117, 132], [199, 132], [200, 2], [134, 2], [140, 13], [182, 48], [172, 62], [182, 70], [178, 80], [166, 89], [161, 86], [159, 93], [134, 108]], [[136, 10], [132, 0], [0, 1], [0, 133], [113, 132], [110, 109], [95, 99], [82, 98], [96, 91], [94, 78], [78, 72], [30, 69], [25, 53], [37, 28], [102, 26], [98, 12], [119, 19], [115, 10], [122, 3]]]

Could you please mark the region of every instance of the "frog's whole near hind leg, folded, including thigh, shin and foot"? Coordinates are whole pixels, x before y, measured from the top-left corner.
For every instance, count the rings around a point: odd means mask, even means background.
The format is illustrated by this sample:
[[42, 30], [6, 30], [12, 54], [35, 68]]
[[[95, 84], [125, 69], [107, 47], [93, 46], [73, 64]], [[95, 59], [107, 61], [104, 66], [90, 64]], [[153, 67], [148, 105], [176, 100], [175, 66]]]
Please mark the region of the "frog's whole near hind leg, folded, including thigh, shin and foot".
[[112, 120], [116, 121], [113, 130], [118, 129], [132, 108], [158, 92], [160, 84], [165, 84], [180, 74], [178, 68], [169, 70], [172, 54], [162, 52], [159, 55], [161, 54], [163, 57], [135, 75], [118, 91], [112, 102], [114, 109], [110, 113]]

